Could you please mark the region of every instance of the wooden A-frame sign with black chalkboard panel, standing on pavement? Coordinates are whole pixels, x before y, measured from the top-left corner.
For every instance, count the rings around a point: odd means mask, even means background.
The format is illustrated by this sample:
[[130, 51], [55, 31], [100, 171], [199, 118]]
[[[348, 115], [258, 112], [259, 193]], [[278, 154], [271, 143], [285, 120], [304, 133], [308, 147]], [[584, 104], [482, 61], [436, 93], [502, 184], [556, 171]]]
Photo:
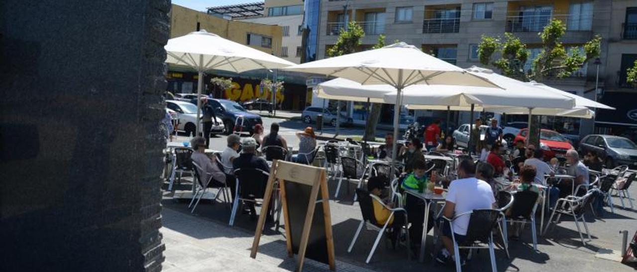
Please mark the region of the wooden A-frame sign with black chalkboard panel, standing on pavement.
[[[331, 270], [336, 269], [326, 177], [325, 168], [280, 160], [275, 160], [270, 170], [261, 210], [268, 210], [275, 183], [278, 181], [287, 254], [289, 257], [293, 257], [295, 253], [299, 255], [296, 268], [298, 272], [303, 269], [306, 254], [310, 259], [329, 264]], [[320, 200], [318, 200], [319, 189]], [[316, 209], [319, 203], [322, 204], [322, 208]], [[267, 212], [261, 212], [259, 215], [252, 252], [250, 252], [250, 257], [253, 259], [257, 257], [259, 240], [267, 214]], [[314, 216], [315, 214], [317, 217]]]

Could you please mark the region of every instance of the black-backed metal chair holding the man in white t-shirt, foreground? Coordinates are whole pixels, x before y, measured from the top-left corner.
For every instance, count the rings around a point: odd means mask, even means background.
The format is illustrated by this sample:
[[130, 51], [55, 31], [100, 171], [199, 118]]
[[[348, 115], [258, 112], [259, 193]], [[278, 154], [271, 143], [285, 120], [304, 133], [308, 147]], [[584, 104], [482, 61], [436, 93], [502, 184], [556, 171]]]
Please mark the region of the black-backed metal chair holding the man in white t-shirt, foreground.
[[[452, 223], [462, 216], [469, 216], [469, 226], [467, 227], [467, 233], [466, 238], [464, 239], [464, 243], [458, 244], [458, 242], [455, 240], [454, 224]], [[492, 209], [481, 209], [473, 210], [471, 212], [465, 212], [459, 215], [455, 215], [454, 219], [443, 217], [443, 219], [448, 221], [448, 224], [451, 228], [451, 238], [454, 241], [456, 271], [462, 271], [460, 264], [460, 248], [468, 248], [469, 250], [473, 250], [475, 248], [489, 248], [491, 269], [493, 272], [497, 272], [496, 252], [494, 251], [495, 245], [493, 243], [492, 229], [496, 227], [499, 218], [501, 218], [501, 212], [499, 210]], [[487, 245], [482, 245], [484, 243], [486, 243]]]

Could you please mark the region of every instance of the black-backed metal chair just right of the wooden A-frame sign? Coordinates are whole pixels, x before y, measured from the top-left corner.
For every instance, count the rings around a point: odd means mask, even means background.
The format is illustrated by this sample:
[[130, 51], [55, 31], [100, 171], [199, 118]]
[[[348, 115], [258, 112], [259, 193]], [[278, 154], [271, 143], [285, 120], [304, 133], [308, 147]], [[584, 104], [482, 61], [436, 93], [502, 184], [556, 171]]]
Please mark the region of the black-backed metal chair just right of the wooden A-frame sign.
[[[361, 230], [363, 227], [366, 227], [366, 230], [368, 231], [378, 232], [378, 235], [376, 235], [376, 240], [374, 241], [374, 245], [371, 247], [371, 251], [369, 251], [369, 255], [367, 256], [367, 259], [365, 261], [365, 263], [368, 264], [369, 260], [371, 260], [371, 256], [374, 255], [374, 252], [376, 251], [376, 247], [378, 247], [378, 242], [380, 242], [380, 238], [383, 236], [385, 231], [388, 230], [387, 227], [392, 226], [392, 224], [390, 224], [389, 222], [392, 221], [392, 219], [394, 219], [394, 214], [396, 214], [397, 212], [402, 212], [404, 214], [405, 225], [401, 226], [401, 231], [403, 227], [405, 230], [407, 229], [406, 224], [408, 224], [407, 222], [409, 221], [407, 220], [407, 211], [404, 210], [404, 208], [387, 207], [387, 205], [385, 205], [385, 203], [383, 203], [383, 201], [380, 200], [378, 196], [370, 194], [368, 191], [364, 189], [357, 188], [356, 195], [358, 196], [359, 207], [361, 207], [362, 221], [361, 221], [361, 224], [359, 224], [358, 229], [356, 229], [356, 233], [354, 234], [354, 238], [352, 238], [350, 247], [347, 248], [347, 252], [348, 253], [352, 252], [352, 248], [354, 248], [354, 243], [356, 243], [356, 240], [358, 236], [361, 234]], [[379, 224], [376, 221], [376, 217], [374, 215], [374, 205], [373, 205], [374, 201], [380, 203], [380, 205], [382, 205], [387, 210], [390, 210], [391, 212], [389, 217], [387, 218], [387, 221], [384, 224]], [[406, 235], [406, 241], [407, 241], [407, 259], [410, 259], [411, 248], [410, 248], [409, 235]]]

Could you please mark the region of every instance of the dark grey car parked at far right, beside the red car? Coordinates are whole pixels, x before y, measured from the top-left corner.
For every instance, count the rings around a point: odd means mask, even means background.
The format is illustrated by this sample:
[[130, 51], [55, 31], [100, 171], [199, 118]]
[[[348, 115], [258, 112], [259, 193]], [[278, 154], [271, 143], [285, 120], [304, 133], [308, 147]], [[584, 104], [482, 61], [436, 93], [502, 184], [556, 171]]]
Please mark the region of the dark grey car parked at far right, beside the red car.
[[580, 141], [580, 156], [594, 151], [604, 161], [606, 168], [628, 165], [637, 169], [637, 145], [624, 137], [613, 135], [587, 135]]

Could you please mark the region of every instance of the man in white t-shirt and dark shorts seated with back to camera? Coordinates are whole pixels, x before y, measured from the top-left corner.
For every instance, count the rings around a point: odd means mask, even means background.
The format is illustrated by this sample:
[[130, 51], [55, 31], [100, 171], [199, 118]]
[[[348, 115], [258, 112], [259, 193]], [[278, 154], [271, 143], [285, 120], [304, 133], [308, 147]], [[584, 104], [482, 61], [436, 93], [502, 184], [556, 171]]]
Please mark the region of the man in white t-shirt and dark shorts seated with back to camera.
[[[484, 180], [476, 179], [476, 165], [473, 161], [464, 160], [458, 165], [458, 177], [449, 185], [445, 210], [443, 215], [452, 219], [455, 215], [471, 212], [476, 209], [494, 208], [496, 198], [493, 196], [491, 186]], [[463, 215], [452, 222], [455, 241], [462, 243], [466, 238], [470, 215]], [[436, 261], [446, 263], [454, 258], [454, 241], [451, 237], [451, 228], [445, 221], [441, 238], [445, 248], [440, 251]], [[464, 264], [464, 261], [461, 261]]]

